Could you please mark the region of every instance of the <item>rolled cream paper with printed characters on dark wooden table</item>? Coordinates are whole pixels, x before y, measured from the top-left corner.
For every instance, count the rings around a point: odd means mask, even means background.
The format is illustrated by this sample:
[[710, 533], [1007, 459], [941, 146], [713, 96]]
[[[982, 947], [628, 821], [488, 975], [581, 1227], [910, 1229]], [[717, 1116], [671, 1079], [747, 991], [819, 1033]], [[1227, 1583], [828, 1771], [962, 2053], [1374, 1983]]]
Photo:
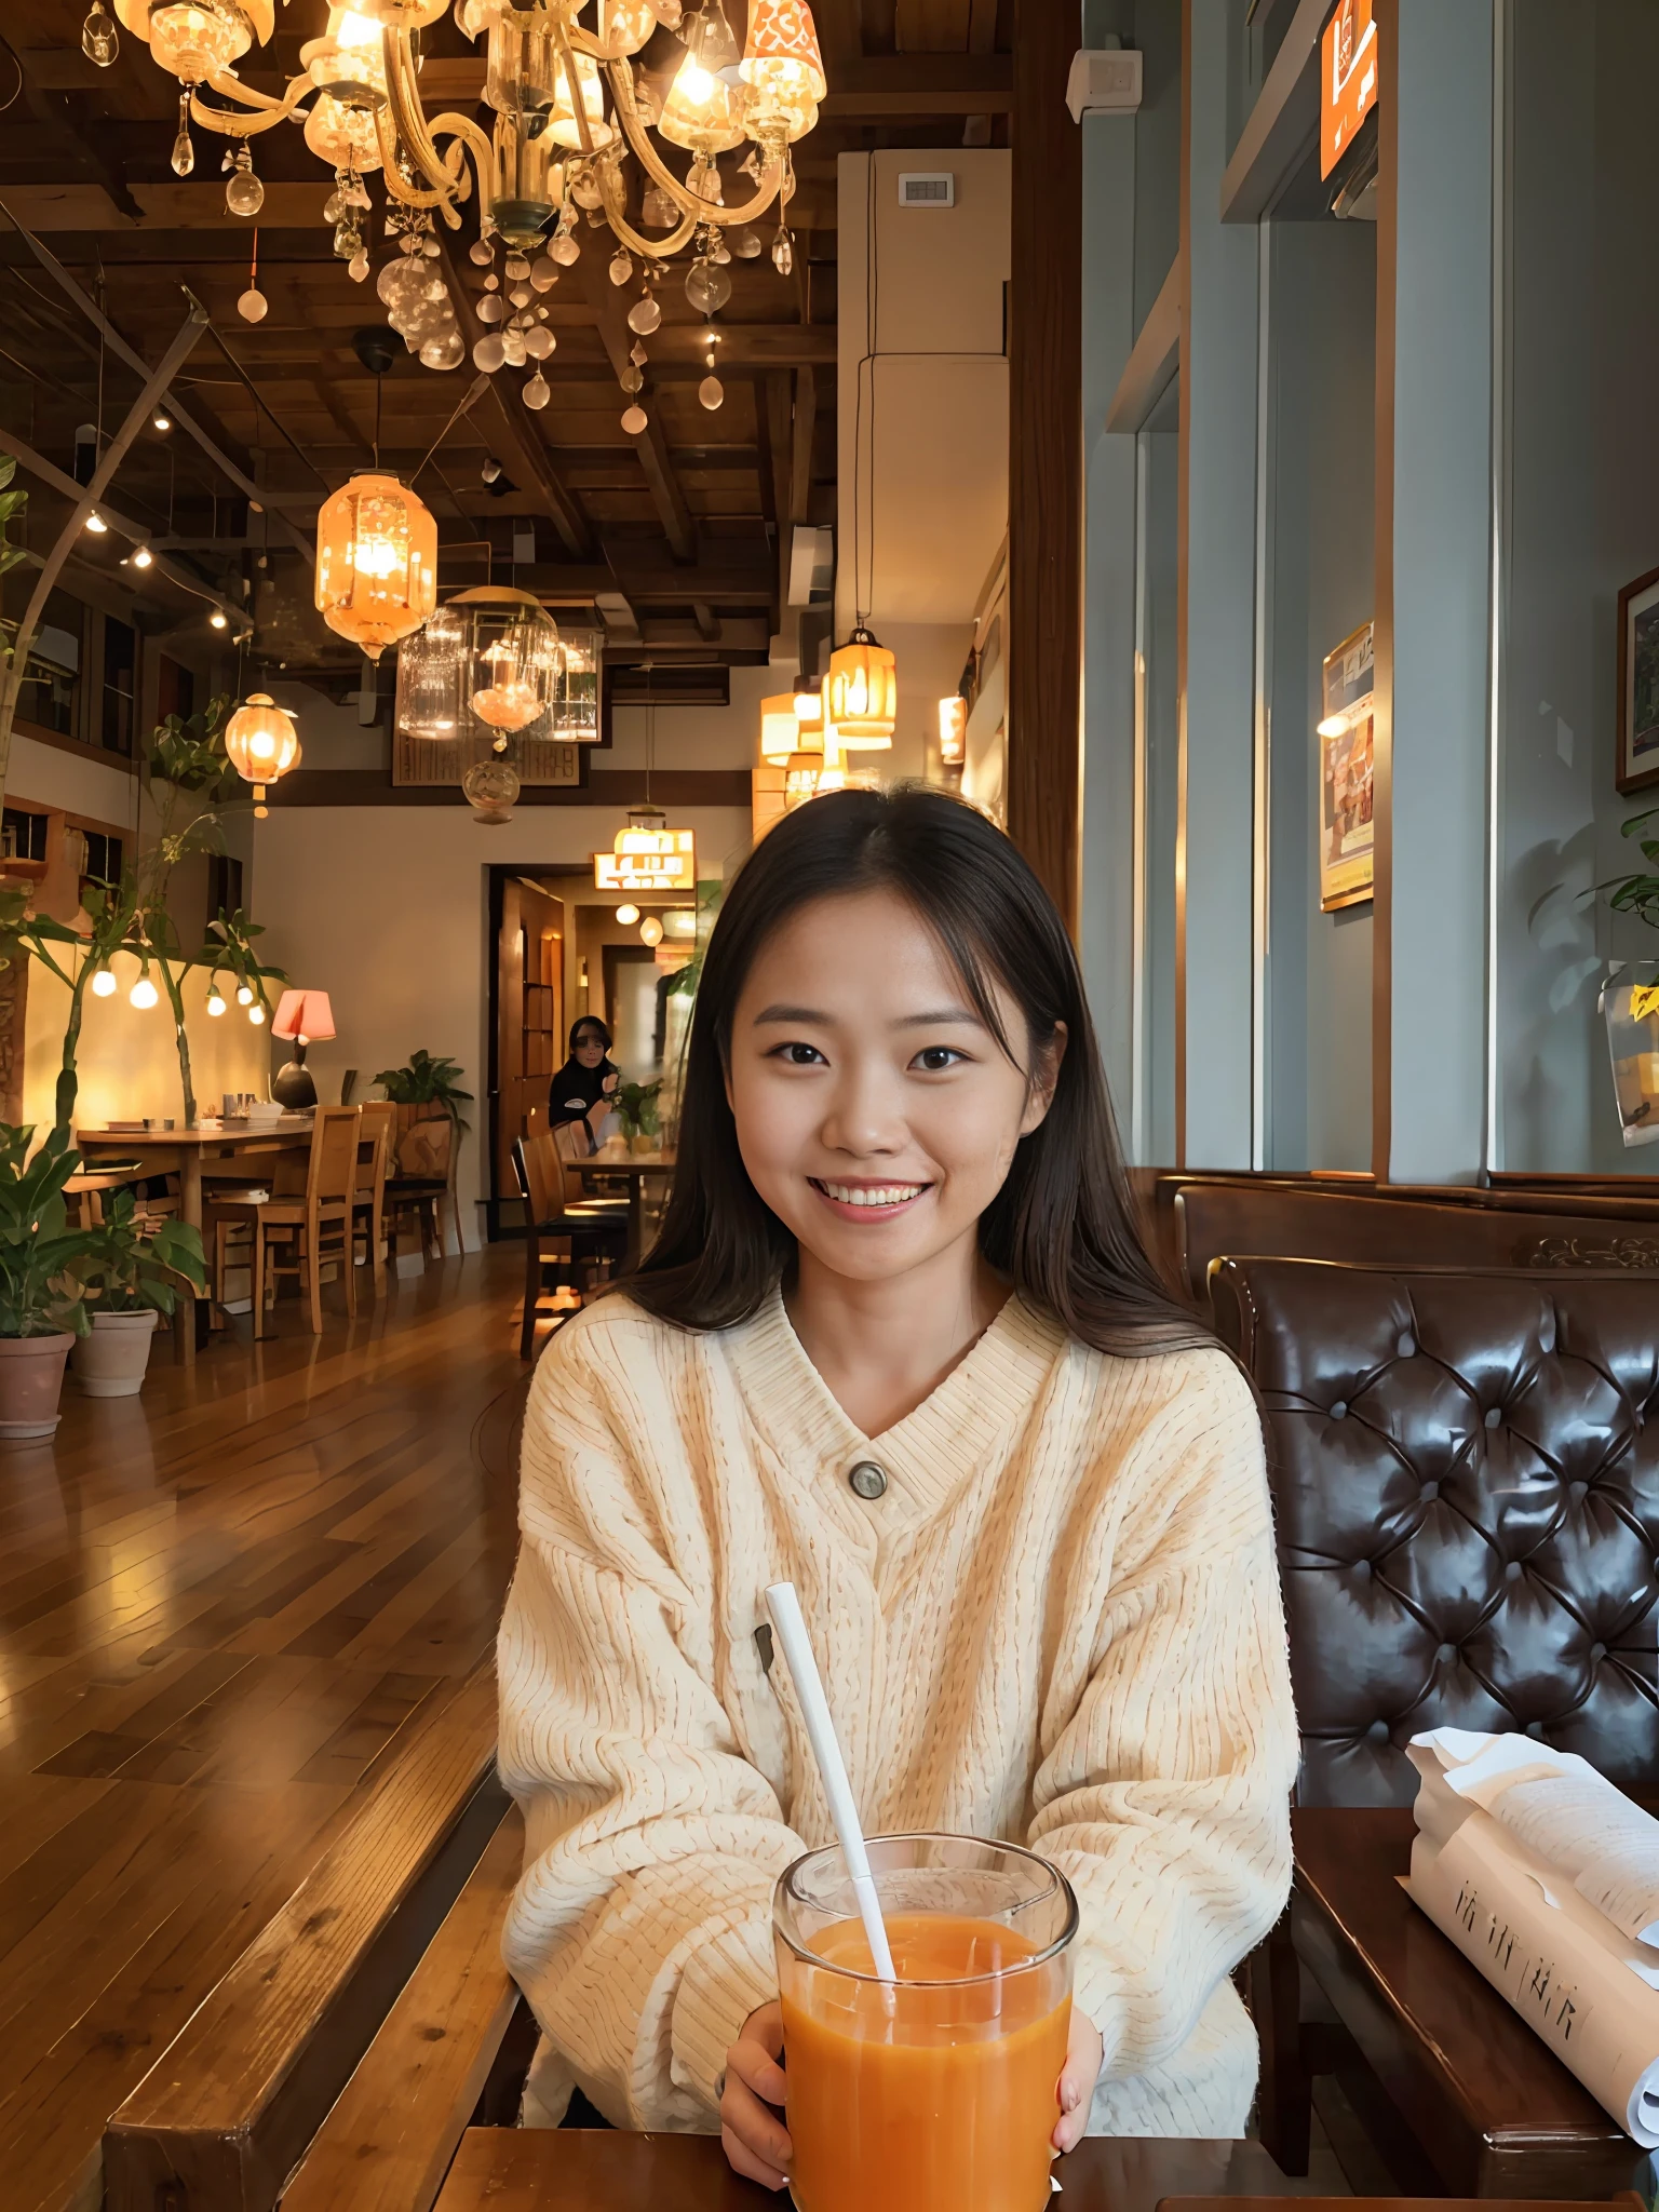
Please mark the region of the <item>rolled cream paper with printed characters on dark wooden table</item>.
[[1531, 1736], [1413, 1736], [1407, 1893], [1644, 2150], [1659, 2148], [1659, 1820]]

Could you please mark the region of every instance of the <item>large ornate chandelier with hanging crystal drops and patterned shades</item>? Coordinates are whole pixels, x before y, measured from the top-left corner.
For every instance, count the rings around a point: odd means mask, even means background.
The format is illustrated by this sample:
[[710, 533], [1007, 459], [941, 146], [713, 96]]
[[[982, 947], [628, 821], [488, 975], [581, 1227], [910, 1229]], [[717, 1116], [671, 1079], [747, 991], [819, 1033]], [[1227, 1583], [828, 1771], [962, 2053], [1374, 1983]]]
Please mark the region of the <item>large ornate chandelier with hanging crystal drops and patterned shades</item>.
[[[173, 168], [181, 177], [195, 168], [192, 124], [239, 139], [234, 168], [243, 181], [232, 195], [232, 212], [252, 210], [250, 139], [283, 122], [301, 124], [310, 150], [334, 168], [336, 190], [325, 217], [334, 223], [334, 250], [358, 281], [369, 272], [361, 223], [369, 204], [367, 173], [385, 177], [389, 228], [400, 232], [403, 250], [425, 259], [438, 252], [434, 223], [458, 230], [462, 208], [476, 199], [471, 261], [491, 268], [480, 321], [493, 327], [476, 341], [473, 363], [491, 374], [529, 363], [531, 405], [546, 405], [540, 361], [553, 352], [553, 332], [533, 292], [546, 290], [560, 268], [580, 257], [582, 217], [588, 226], [608, 226], [615, 237], [613, 281], [639, 279], [628, 314], [639, 338], [661, 321], [655, 288], [677, 254], [690, 257], [686, 296], [706, 316], [730, 299], [726, 263], [732, 254], [752, 259], [763, 250], [754, 230], [763, 217], [776, 212], [772, 261], [779, 274], [787, 276], [794, 265], [790, 148], [814, 128], [827, 91], [807, 0], [750, 0], [743, 46], [723, 0], [703, 0], [686, 15], [681, 0], [531, 0], [529, 7], [458, 0], [460, 29], [484, 40], [491, 131], [456, 111], [429, 117], [420, 104], [420, 31], [436, 24], [451, 0], [332, 0], [323, 33], [301, 46], [301, 73], [281, 97], [237, 75], [237, 62], [272, 38], [274, 0], [113, 4], [122, 27], [179, 80]], [[635, 69], [635, 55], [659, 27], [677, 31], [686, 44], [661, 100]], [[743, 144], [741, 173], [752, 190], [726, 206], [717, 157]], [[628, 212], [628, 159], [637, 161], [641, 179], [637, 223]], [[493, 274], [495, 241], [507, 250], [504, 301]], [[531, 270], [529, 257], [538, 252], [544, 283]], [[414, 281], [403, 290], [414, 292]], [[445, 292], [442, 281], [438, 292]], [[453, 327], [453, 303], [431, 305], [427, 316], [405, 314], [414, 330], [396, 316], [394, 327], [403, 327], [427, 367], [458, 367], [465, 345]], [[637, 345], [633, 378], [641, 367], [644, 345]], [[639, 383], [624, 376], [624, 389], [633, 400], [628, 418], [637, 418], [628, 427], [639, 431], [646, 425]], [[719, 400], [706, 398], [706, 405]]]

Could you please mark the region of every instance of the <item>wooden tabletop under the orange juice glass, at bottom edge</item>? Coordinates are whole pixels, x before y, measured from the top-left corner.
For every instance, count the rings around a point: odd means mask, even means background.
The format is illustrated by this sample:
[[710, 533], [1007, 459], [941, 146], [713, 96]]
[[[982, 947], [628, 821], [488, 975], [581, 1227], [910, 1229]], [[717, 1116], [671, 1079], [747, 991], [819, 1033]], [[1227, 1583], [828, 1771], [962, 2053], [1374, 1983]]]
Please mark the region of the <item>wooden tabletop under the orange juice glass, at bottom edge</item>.
[[[1152, 2212], [1164, 2197], [1312, 2197], [1261, 2143], [1091, 2137], [1055, 2163], [1064, 2212]], [[714, 2135], [469, 2128], [436, 2212], [790, 2212]], [[1422, 2208], [1416, 2208], [1422, 2212]]]

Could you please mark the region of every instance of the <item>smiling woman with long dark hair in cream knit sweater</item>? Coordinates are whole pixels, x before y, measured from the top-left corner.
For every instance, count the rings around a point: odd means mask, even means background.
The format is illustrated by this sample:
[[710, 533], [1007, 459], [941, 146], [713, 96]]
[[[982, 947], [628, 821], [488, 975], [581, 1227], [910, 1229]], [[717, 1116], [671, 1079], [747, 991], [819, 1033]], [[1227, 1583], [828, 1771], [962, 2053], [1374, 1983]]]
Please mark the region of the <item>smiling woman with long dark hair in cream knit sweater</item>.
[[1243, 2130], [1228, 1973], [1296, 1763], [1261, 1431], [1135, 1237], [1060, 916], [971, 807], [816, 799], [730, 887], [664, 1234], [538, 1367], [522, 1531], [529, 2119], [580, 2079], [790, 2177], [772, 1891], [830, 1834], [754, 1635], [792, 1582], [865, 1827], [1020, 1843], [1077, 1896], [1037, 2166]]

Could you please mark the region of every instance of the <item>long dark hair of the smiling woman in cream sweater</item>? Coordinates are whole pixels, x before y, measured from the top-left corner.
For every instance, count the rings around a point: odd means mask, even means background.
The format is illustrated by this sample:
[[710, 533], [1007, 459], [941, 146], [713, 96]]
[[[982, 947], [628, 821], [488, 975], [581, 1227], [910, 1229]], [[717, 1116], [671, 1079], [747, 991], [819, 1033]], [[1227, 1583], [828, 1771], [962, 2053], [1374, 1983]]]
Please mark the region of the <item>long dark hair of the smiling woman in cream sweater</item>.
[[[1135, 1228], [1084, 978], [1053, 900], [984, 814], [918, 785], [810, 801], [732, 880], [697, 987], [675, 1188], [628, 1296], [679, 1327], [721, 1329], [748, 1321], [794, 1261], [794, 1237], [737, 1148], [726, 1102], [732, 1015], [761, 945], [792, 914], [869, 889], [896, 891], [936, 931], [975, 1013], [1018, 1064], [1066, 1024], [1053, 1104], [980, 1217], [984, 1259], [1099, 1352], [1214, 1343], [1164, 1287]], [[1024, 1051], [1002, 1031], [993, 980], [1024, 1015]]]

